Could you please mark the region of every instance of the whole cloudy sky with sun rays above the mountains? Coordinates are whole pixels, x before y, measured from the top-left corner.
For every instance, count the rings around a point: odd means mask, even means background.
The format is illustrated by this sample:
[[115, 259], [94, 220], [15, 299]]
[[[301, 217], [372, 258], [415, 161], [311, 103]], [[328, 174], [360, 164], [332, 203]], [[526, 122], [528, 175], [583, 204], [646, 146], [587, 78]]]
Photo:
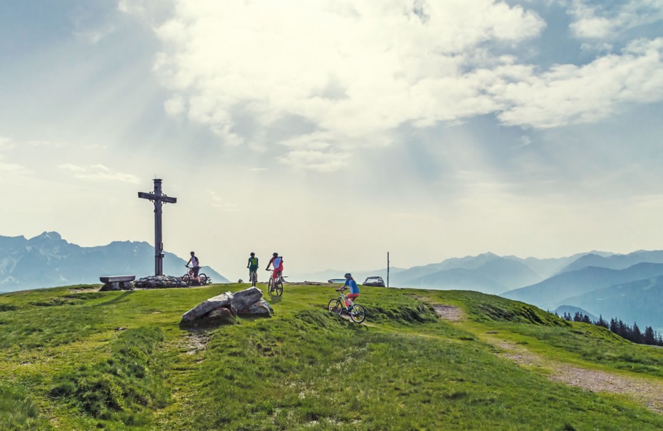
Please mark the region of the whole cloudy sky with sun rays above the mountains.
[[663, 0], [0, 0], [0, 235], [229, 279], [662, 249]]

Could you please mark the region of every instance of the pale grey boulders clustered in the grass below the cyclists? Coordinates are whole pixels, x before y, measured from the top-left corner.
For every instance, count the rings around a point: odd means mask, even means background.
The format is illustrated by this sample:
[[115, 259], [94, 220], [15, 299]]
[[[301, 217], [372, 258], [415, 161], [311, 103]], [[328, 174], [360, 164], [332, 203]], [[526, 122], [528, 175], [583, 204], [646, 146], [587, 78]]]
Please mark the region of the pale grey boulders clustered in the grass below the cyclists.
[[248, 288], [239, 292], [225, 292], [211, 297], [182, 315], [184, 327], [215, 326], [234, 322], [236, 315], [270, 317], [269, 303], [262, 299], [262, 290]]

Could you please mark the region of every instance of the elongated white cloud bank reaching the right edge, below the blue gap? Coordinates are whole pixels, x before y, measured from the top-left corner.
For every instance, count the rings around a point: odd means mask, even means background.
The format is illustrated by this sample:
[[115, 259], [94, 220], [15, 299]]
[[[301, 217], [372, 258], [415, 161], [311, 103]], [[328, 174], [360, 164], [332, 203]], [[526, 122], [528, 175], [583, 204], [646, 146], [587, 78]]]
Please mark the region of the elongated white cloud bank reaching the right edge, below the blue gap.
[[492, 91], [509, 106], [498, 114], [507, 125], [591, 123], [623, 104], [663, 100], [663, 38], [634, 41], [622, 55], [587, 65], [556, 65], [510, 84], [497, 81]]

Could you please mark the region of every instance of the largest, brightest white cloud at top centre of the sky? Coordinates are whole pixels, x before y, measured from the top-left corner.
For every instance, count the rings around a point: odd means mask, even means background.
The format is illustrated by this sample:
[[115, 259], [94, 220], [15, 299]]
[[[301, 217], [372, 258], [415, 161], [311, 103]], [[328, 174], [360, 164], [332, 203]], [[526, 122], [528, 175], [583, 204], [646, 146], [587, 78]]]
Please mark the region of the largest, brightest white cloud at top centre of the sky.
[[[177, 1], [156, 30], [165, 49], [155, 70], [174, 93], [167, 112], [208, 125], [225, 143], [247, 141], [235, 128], [241, 112], [257, 127], [303, 118], [330, 141], [363, 145], [403, 123], [494, 111], [498, 104], [481, 93], [485, 77], [463, 75], [477, 61], [473, 49], [517, 44], [544, 25], [493, 0]], [[333, 164], [344, 159], [331, 145], [317, 152]], [[314, 154], [283, 160], [322, 158]]]

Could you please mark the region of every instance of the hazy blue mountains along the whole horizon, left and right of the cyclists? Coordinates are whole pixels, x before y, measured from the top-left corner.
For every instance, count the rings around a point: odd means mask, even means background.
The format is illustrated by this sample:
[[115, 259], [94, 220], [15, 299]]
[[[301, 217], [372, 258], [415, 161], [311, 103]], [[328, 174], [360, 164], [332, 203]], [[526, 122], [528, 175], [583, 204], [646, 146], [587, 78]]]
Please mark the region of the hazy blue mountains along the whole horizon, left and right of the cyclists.
[[[165, 253], [164, 272], [181, 275], [186, 260]], [[70, 244], [56, 232], [25, 237], [0, 236], [0, 292], [78, 283], [99, 283], [105, 275], [153, 274], [154, 248], [146, 242], [105, 246]], [[211, 267], [212, 281], [228, 280]], [[291, 281], [342, 278], [346, 270], [289, 274]], [[362, 283], [387, 270], [350, 270]], [[589, 251], [563, 258], [518, 258], [483, 253], [411, 268], [390, 268], [391, 287], [477, 290], [533, 304], [544, 310], [581, 310], [609, 320], [663, 331], [663, 251], [616, 254]], [[560, 308], [560, 307], [567, 308]]]

